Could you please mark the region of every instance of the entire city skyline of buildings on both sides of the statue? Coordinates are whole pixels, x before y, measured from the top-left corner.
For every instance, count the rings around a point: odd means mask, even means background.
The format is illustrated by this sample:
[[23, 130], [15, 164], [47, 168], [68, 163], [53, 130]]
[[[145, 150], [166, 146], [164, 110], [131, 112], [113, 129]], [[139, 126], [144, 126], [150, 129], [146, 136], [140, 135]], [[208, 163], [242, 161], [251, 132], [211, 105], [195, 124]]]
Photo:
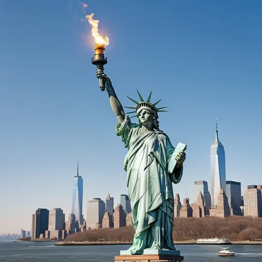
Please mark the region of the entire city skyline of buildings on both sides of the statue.
[[[207, 181], [194, 182], [194, 200], [183, 199], [179, 194], [174, 197], [174, 217], [204, 217], [205, 215], [228, 217], [230, 215], [262, 216], [262, 185], [249, 185], [244, 196], [241, 195], [241, 183], [226, 180], [225, 149], [219, 140], [217, 130], [215, 141], [210, 149], [211, 187]], [[131, 206], [128, 195], [121, 194], [120, 203], [114, 206], [114, 198], [108, 192], [105, 201], [94, 198], [86, 204], [85, 220], [83, 209], [83, 179], [77, 175], [73, 178], [72, 211], [68, 220], [61, 208], [47, 210], [39, 208], [32, 215], [32, 238], [65, 238], [67, 235], [96, 228], [119, 228], [133, 225]], [[28, 232], [21, 230], [21, 237]], [[30, 232], [29, 232], [30, 235]], [[1, 238], [17, 237], [2, 235]]]

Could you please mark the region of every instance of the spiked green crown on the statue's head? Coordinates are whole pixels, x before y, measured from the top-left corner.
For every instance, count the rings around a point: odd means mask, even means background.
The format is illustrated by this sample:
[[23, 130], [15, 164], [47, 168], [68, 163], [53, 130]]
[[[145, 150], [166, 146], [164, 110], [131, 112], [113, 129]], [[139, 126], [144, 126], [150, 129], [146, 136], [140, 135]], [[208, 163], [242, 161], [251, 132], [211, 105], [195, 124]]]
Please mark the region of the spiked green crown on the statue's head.
[[150, 92], [147, 100], [145, 101], [143, 99], [143, 97], [140, 95], [140, 93], [138, 92], [137, 90], [137, 93], [139, 95], [139, 98], [140, 98], [140, 102], [130, 98], [130, 97], [127, 97], [129, 98], [131, 101], [133, 101], [137, 106], [124, 106], [126, 108], [131, 108], [131, 109], [134, 109], [136, 111], [133, 111], [133, 112], [128, 112], [127, 114], [132, 114], [132, 113], [136, 113], [136, 116], [139, 115], [139, 113], [143, 110], [143, 109], [146, 109], [146, 110], [149, 110], [152, 114], [157, 114], [158, 112], [167, 112], [165, 110], [162, 110], [163, 108], [166, 108], [167, 106], [163, 106], [163, 107], [156, 107], [156, 105], [162, 100], [158, 100], [157, 102], [155, 103], [150, 103], [150, 99], [151, 99], [151, 94], [152, 94], [152, 91]]

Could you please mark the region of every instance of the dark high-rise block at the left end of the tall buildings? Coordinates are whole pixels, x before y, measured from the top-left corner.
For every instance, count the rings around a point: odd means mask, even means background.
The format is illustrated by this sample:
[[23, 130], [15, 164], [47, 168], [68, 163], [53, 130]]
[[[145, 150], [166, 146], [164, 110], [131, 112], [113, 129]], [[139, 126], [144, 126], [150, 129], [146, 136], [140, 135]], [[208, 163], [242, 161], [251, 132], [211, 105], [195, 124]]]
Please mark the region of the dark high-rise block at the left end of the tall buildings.
[[32, 238], [39, 238], [45, 235], [48, 230], [49, 210], [46, 208], [38, 208], [32, 215]]

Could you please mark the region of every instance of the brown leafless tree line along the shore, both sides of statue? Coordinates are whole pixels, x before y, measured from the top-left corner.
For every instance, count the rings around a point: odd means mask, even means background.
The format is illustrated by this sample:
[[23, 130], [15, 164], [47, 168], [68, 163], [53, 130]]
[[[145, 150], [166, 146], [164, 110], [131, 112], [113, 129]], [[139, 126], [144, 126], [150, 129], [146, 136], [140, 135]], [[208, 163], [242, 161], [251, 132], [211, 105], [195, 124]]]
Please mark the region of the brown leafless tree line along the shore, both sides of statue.
[[[134, 227], [88, 229], [67, 236], [65, 241], [133, 241]], [[174, 241], [189, 241], [198, 238], [228, 238], [231, 241], [254, 241], [262, 239], [262, 218], [229, 216], [226, 218], [205, 216], [176, 217]]]

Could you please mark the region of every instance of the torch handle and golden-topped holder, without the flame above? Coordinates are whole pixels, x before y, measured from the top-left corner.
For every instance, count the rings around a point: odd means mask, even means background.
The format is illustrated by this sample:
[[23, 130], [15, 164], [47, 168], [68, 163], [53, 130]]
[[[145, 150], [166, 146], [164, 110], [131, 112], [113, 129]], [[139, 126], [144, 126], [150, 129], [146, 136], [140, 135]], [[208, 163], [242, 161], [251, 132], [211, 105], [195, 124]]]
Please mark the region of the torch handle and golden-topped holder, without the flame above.
[[[104, 73], [104, 64], [107, 63], [107, 58], [104, 56], [105, 45], [95, 45], [95, 55], [92, 57], [92, 63], [96, 65], [96, 72], [99, 74]], [[101, 91], [105, 90], [104, 78], [99, 78], [99, 87]]]

